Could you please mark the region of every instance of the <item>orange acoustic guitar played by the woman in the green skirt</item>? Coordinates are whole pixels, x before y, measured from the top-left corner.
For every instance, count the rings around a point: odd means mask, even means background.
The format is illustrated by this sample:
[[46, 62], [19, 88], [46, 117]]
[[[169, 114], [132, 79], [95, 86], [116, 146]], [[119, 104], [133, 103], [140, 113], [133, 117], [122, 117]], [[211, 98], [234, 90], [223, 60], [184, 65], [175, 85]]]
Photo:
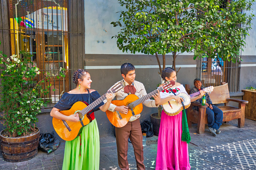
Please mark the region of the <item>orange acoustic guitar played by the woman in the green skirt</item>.
[[[107, 93], [115, 93], [118, 90], [122, 89], [125, 86], [124, 82], [116, 83], [112, 89], [108, 90]], [[73, 106], [69, 110], [62, 110], [60, 113], [69, 116], [71, 114], [79, 114], [80, 121], [78, 122], [71, 122], [67, 120], [61, 120], [54, 118], [52, 119], [52, 124], [55, 131], [63, 140], [73, 140], [77, 135], [80, 134], [82, 127], [89, 124], [92, 121], [90, 117], [91, 110], [98, 106], [101, 102], [106, 99], [106, 94], [95, 100], [90, 105], [78, 101], [73, 104]]]

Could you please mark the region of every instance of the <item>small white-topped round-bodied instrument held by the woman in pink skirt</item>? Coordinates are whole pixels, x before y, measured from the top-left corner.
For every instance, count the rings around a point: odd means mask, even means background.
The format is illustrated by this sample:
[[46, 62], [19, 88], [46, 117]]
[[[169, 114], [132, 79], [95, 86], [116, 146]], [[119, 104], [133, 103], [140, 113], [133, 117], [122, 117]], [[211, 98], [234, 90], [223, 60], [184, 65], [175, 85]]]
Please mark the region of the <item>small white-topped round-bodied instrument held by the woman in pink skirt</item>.
[[[203, 89], [206, 93], [211, 93], [213, 91], [213, 86]], [[199, 95], [200, 92], [196, 92], [188, 95], [187, 93], [180, 93], [177, 96], [183, 98], [183, 104], [185, 109], [190, 106], [190, 98]], [[169, 116], [175, 116], [183, 110], [183, 105], [178, 104], [175, 99], [169, 100], [162, 105], [164, 112]]]

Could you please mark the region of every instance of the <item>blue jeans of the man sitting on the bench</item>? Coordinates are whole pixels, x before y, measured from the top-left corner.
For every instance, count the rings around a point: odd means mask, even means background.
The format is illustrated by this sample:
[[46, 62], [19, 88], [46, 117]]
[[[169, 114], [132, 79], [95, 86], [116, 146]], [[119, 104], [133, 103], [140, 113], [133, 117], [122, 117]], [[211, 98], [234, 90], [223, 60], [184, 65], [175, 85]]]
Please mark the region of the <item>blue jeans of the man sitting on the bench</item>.
[[209, 107], [206, 108], [206, 114], [208, 115], [208, 126], [219, 129], [222, 120], [223, 120], [223, 112], [217, 106], [212, 105], [212, 109]]

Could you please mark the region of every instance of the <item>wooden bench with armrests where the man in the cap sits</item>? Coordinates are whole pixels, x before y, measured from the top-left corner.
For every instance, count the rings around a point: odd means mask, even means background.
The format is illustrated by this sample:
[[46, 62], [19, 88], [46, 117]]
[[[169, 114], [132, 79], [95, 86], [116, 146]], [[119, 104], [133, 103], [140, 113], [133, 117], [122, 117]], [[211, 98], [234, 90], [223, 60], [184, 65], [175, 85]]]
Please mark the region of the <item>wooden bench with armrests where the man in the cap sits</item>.
[[[190, 93], [190, 85], [186, 84], [186, 90]], [[214, 87], [213, 91], [209, 93], [213, 104], [224, 103], [224, 106], [218, 106], [223, 111], [223, 122], [238, 119], [238, 127], [244, 127], [244, 109], [246, 100], [229, 98], [228, 84]], [[228, 106], [229, 101], [238, 102], [239, 107]], [[199, 110], [192, 109], [193, 106], [198, 106]], [[188, 108], [187, 118], [189, 127], [192, 123], [197, 123], [197, 133], [202, 134], [205, 131], [205, 124], [208, 124], [207, 114], [205, 113], [207, 106], [202, 106], [199, 103], [191, 103]]]

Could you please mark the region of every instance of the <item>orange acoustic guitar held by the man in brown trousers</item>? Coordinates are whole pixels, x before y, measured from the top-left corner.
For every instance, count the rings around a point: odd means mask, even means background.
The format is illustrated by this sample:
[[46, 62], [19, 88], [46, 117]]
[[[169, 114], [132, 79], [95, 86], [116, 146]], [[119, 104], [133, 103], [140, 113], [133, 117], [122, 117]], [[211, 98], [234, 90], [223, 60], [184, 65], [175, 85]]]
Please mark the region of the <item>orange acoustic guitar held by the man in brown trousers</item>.
[[[175, 81], [167, 81], [163, 84], [162, 87], [158, 87], [157, 89], [160, 91], [170, 88], [173, 85], [175, 85]], [[151, 93], [148, 93], [145, 96], [142, 96], [141, 98], [138, 98], [135, 94], [129, 94], [125, 97], [123, 100], [112, 100], [111, 103], [116, 106], [127, 106], [128, 107], [128, 113], [120, 113], [118, 111], [106, 111], [107, 117], [109, 121], [116, 127], [123, 127], [125, 126], [128, 121], [130, 120], [131, 116], [137, 115], [141, 113], [143, 106], [142, 102], [152, 97], [152, 95], [157, 93], [157, 89], [152, 91]]]

